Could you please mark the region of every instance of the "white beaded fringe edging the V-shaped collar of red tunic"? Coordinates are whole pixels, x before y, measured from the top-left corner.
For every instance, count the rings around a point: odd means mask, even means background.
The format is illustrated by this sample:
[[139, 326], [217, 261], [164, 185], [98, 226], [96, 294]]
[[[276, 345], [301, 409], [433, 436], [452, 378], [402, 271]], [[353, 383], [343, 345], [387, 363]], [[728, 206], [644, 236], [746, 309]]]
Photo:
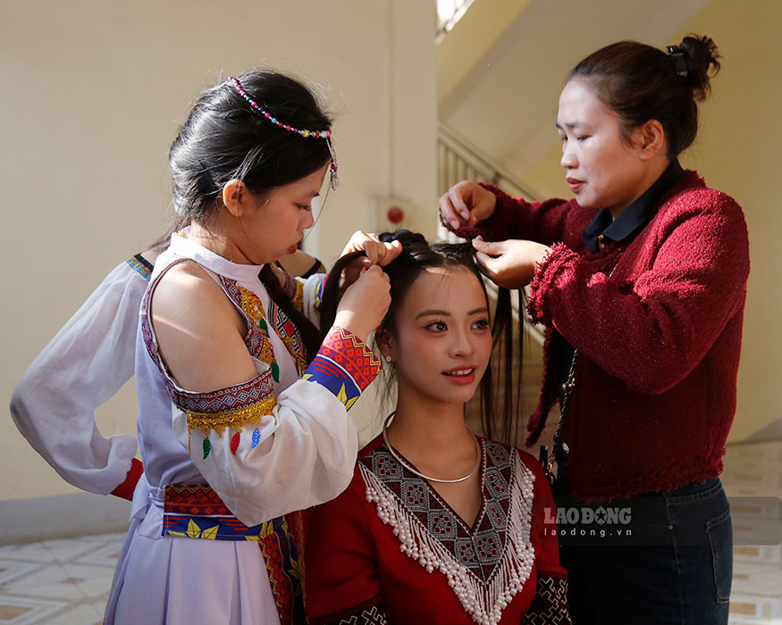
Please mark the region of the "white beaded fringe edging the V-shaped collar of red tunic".
[[427, 572], [441, 571], [465, 612], [481, 625], [500, 622], [502, 610], [524, 587], [534, 564], [534, 546], [530, 541], [534, 474], [517, 457], [513, 462], [505, 548], [488, 584], [456, 562], [425, 525], [403, 507], [399, 498], [364, 464], [358, 463], [366, 483], [366, 500], [374, 502], [380, 520], [393, 528], [401, 543], [399, 550]]

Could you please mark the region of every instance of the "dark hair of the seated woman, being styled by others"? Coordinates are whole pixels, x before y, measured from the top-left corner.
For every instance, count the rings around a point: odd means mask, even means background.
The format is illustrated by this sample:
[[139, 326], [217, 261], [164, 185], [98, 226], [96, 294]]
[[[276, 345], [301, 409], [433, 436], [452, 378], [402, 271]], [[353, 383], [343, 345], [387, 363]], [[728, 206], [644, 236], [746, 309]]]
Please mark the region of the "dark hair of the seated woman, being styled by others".
[[[393, 334], [396, 330], [396, 316], [399, 306], [402, 304], [409, 288], [418, 276], [428, 268], [465, 268], [472, 271], [475, 278], [481, 283], [483, 295], [488, 295], [483, 283], [483, 277], [478, 270], [473, 254], [473, 246], [469, 243], [435, 243], [429, 245], [423, 235], [409, 230], [397, 230], [396, 232], [384, 232], [379, 235], [384, 243], [399, 241], [402, 251], [399, 256], [383, 267], [383, 271], [391, 280], [391, 305], [383, 317], [379, 332]], [[321, 329], [331, 328], [339, 304], [340, 276], [345, 266], [364, 252], [356, 252], [343, 256], [332, 268], [329, 278], [324, 286], [323, 301], [320, 306]], [[489, 362], [486, 372], [483, 374], [480, 385], [481, 424], [483, 434], [486, 437], [500, 440], [501, 442], [515, 445], [517, 437], [517, 416], [519, 397], [521, 394], [521, 371], [516, 370], [514, 379], [513, 356], [518, 354], [518, 362], [521, 362], [522, 341], [517, 340], [514, 348], [514, 323], [510, 305], [510, 293], [507, 289], [500, 288], [497, 305], [492, 324], [493, 344], [500, 343], [504, 390], [502, 397], [502, 410], [496, 412], [495, 387], [493, 383], [492, 363]]]

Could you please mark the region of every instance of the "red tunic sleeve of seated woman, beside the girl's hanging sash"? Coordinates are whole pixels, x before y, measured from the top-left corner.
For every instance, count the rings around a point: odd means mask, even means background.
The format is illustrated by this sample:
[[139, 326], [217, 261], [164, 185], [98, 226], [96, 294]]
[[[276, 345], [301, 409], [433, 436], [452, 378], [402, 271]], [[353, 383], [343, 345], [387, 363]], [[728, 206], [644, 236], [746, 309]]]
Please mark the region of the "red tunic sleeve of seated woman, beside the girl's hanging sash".
[[306, 608], [310, 623], [384, 623], [377, 556], [356, 473], [308, 522]]

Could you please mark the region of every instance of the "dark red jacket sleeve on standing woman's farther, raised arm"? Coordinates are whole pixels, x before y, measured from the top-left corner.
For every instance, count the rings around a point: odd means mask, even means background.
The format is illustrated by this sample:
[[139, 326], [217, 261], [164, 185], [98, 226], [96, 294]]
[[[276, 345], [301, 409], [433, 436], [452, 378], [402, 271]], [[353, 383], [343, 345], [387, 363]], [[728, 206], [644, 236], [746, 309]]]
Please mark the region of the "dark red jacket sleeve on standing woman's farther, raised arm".
[[566, 200], [552, 198], [542, 202], [527, 202], [523, 197], [511, 197], [498, 187], [483, 184], [497, 197], [497, 207], [492, 216], [470, 228], [453, 230], [462, 238], [482, 236], [486, 241], [503, 241], [523, 238], [551, 245], [565, 236], [566, 219], [572, 208]]

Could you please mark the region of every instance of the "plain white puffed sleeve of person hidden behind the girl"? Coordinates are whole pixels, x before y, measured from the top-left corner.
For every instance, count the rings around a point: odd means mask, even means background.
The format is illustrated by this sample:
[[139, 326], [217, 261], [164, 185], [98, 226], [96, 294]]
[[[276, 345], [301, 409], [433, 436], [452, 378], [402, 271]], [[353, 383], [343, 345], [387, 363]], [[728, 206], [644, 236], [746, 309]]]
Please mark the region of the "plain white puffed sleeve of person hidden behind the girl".
[[38, 454], [73, 486], [101, 495], [122, 484], [136, 454], [135, 437], [101, 436], [95, 410], [133, 375], [148, 274], [136, 259], [115, 267], [30, 364], [11, 399], [13, 421]]

